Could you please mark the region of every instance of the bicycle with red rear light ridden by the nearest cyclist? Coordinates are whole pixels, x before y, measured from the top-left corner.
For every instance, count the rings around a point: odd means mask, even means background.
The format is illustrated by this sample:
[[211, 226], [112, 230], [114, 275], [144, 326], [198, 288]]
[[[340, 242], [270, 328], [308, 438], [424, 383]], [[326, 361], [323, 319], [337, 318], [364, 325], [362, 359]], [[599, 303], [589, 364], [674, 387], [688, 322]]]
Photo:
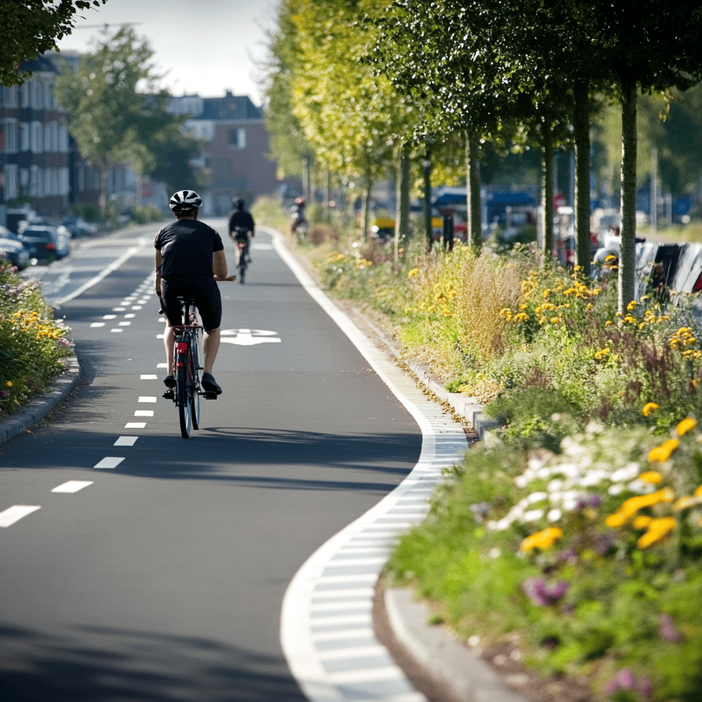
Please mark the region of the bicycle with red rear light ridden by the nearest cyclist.
[[180, 435], [190, 437], [190, 430], [200, 428], [200, 395], [205, 399], [217, 399], [217, 393], [202, 390], [199, 364], [202, 326], [197, 323], [195, 301], [191, 298], [176, 298], [180, 303], [185, 324], [173, 326], [176, 340], [173, 344], [173, 374], [176, 387], [166, 390], [164, 397], [173, 399], [178, 407]]

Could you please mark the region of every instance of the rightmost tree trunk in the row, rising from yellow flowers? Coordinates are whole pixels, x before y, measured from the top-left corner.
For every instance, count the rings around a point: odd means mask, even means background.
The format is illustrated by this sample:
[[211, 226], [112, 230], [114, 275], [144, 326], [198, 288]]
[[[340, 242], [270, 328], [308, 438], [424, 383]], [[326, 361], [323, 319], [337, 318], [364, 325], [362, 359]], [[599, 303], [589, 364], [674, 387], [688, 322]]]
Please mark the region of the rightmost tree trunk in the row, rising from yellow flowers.
[[635, 295], [636, 254], [636, 81], [621, 81], [621, 233], [619, 241], [618, 312]]

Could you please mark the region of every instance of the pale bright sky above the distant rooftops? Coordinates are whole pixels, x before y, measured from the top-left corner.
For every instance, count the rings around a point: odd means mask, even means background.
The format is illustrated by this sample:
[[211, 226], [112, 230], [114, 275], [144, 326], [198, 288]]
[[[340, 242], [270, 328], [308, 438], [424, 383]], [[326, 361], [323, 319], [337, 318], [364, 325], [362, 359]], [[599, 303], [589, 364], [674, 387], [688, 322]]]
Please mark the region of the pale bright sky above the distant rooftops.
[[230, 90], [260, 105], [256, 64], [265, 59], [266, 29], [275, 27], [276, 8], [277, 0], [107, 0], [79, 11], [75, 29], [58, 48], [91, 51], [105, 23], [114, 34], [133, 22], [154, 50], [157, 72], [165, 74], [161, 85], [173, 95], [216, 98]]

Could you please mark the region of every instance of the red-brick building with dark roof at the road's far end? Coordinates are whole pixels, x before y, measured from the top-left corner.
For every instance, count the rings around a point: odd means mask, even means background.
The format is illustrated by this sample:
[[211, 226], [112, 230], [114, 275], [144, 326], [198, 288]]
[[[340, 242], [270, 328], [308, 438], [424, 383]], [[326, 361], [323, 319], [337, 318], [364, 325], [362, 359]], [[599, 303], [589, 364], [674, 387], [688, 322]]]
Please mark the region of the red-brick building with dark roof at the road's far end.
[[[204, 213], [223, 215], [232, 207], [232, 197], [247, 205], [259, 195], [274, 194], [278, 183], [275, 164], [268, 158], [268, 132], [260, 108], [246, 95], [173, 98], [168, 110], [187, 114], [185, 128], [204, 148], [194, 165], [205, 169], [206, 186], [201, 192]], [[184, 186], [185, 187], [185, 186]]]

